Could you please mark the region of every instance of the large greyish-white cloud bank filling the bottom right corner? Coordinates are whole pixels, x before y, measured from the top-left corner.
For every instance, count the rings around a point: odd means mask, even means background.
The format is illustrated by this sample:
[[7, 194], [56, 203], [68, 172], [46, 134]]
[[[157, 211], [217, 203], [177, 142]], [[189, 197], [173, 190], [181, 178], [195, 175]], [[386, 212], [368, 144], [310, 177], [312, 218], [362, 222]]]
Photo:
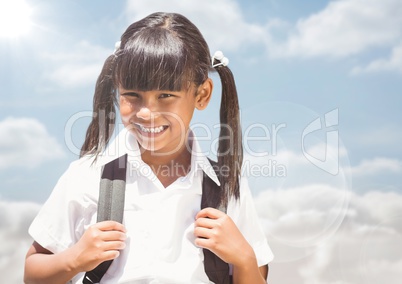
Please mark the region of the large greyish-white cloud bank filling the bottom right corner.
[[270, 283], [399, 283], [401, 194], [316, 184], [266, 190], [255, 201], [276, 257]]

